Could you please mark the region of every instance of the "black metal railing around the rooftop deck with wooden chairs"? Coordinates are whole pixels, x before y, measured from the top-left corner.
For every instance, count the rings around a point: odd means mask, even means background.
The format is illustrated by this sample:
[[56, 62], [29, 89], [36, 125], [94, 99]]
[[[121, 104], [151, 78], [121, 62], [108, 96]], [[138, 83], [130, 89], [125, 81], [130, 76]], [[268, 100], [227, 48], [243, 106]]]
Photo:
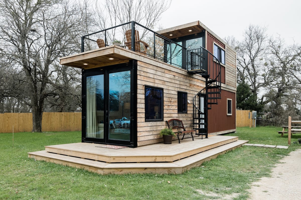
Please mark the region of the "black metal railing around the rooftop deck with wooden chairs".
[[[136, 31], [138, 35], [135, 35]], [[125, 49], [186, 69], [186, 65], [182, 66], [182, 59], [186, 59], [182, 56], [186, 55], [185, 47], [137, 22], [127, 22], [82, 36], [81, 52], [99, 48], [98, 39], [104, 41], [104, 46], [113, 45], [114, 41], [119, 40], [118, 45]]]

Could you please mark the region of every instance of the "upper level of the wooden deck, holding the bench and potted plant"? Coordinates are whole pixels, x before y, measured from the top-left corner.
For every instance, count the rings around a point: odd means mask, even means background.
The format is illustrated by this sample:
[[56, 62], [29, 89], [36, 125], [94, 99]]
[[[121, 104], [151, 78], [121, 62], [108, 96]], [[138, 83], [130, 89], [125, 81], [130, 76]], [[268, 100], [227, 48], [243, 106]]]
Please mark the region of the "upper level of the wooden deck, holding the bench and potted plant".
[[[194, 142], [192, 139], [185, 138], [181, 144], [175, 142], [170, 146], [162, 146], [163, 144], [158, 143], [151, 146], [124, 149], [100, 148], [101, 145], [99, 144], [80, 142], [45, 146], [45, 151], [106, 163], [173, 162], [237, 140], [238, 137], [236, 136], [216, 136], [206, 142], [200, 142], [197, 139]], [[189, 145], [187, 145], [188, 143]], [[162, 148], [164, 148], [164, 151], [161, 150]], [[138, 153], [137, 149], [139, 149]], [[178, 149], [178, 151], [175, 151], [175, 149]]]

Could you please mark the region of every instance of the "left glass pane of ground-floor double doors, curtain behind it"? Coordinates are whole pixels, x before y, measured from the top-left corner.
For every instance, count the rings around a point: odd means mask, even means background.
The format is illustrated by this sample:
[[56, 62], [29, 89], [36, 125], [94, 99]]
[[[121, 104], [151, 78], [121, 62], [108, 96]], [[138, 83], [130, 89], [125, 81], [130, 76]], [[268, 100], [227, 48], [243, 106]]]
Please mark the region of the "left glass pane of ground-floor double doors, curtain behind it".
[[86, 137], [104, 138], [104, 75], [86, 78]]

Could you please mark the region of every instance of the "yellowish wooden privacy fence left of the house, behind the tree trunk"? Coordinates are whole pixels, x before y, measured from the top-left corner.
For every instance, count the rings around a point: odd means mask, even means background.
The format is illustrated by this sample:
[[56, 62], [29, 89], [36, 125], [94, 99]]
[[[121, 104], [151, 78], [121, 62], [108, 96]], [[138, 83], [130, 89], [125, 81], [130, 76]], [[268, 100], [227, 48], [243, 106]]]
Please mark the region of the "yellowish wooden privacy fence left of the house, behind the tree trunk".
[[[32, 113], [0, 114], [0, 133], [31, 132]], [[79, 131], [82, 130], [81, 112], [43, 112], [42, 131]]]

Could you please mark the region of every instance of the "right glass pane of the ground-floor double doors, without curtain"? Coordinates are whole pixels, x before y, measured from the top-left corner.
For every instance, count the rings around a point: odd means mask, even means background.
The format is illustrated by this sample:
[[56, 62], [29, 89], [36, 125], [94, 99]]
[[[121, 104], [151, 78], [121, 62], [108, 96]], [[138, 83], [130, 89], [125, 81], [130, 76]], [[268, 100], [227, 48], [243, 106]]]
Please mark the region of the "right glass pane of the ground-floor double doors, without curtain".
[[109, 139], [130, 140], [131, 72], [109, 73]]

